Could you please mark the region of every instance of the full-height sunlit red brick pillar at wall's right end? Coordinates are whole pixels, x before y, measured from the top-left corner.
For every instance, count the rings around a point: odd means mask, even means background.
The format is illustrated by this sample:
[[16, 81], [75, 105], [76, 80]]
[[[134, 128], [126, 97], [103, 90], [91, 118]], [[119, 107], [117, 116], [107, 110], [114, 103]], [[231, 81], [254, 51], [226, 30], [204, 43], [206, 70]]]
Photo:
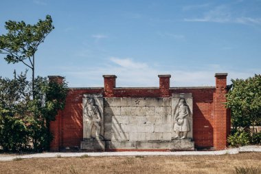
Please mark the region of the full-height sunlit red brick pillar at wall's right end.
[[214, 93], [214, 148], [216, 150], [226, 149], [227, 146], [227, 127], [229, 125], [229, 114], [225, 108], [227, 94], [227, 73], [216, 73], [216, 91]]

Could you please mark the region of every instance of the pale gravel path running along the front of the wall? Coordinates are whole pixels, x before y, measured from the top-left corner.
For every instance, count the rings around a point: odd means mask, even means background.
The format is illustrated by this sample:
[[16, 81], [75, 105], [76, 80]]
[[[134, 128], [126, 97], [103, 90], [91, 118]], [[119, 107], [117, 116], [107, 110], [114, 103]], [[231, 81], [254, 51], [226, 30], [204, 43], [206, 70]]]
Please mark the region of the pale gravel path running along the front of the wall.
[[89, 152], [89, 153], [34, 153], [28, 155], [0, 155], [0, 161], [12, 161], [16, 158], [39, 158], [39, 157], [80, 157], [89, 156], [135, 156], [135, 155], [224, 155], [236, 154], [239, 152], [261, 152], [261, 146], [242, 146], [236, 149], [227, 149], [223, 151], [124, 151], [124, 152]]

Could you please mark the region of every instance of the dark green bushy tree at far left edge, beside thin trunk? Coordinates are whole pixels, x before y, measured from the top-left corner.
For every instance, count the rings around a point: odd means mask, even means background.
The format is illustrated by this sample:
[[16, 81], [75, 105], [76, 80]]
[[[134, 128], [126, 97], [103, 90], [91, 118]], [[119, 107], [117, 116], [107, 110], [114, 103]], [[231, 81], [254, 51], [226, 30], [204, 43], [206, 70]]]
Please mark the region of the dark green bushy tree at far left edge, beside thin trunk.
[[16, 76], [14, 72], [12, 80], [0, 77], [0, 146], [4, 151], [20, 151], [29, 147], [28, 85], [26, 74]]

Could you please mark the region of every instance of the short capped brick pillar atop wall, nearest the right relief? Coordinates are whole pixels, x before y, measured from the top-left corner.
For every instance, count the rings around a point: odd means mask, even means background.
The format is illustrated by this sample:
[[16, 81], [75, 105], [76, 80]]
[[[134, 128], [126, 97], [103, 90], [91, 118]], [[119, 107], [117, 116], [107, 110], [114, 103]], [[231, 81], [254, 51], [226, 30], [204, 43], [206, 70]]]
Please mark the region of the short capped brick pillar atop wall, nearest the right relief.
[[170, 96], [170, 74], [158, 75], [159, 77], [159, 96]]

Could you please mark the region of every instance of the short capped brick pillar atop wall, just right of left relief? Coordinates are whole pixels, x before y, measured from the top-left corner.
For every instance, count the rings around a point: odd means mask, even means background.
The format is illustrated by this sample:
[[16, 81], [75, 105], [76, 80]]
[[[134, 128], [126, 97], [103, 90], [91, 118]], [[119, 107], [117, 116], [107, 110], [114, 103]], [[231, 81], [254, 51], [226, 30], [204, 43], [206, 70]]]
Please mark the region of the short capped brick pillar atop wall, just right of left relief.
[[104, 97], [113, 97], [113, 88], [116, 87], [115, 75], [103, 75], [104, 78]]

